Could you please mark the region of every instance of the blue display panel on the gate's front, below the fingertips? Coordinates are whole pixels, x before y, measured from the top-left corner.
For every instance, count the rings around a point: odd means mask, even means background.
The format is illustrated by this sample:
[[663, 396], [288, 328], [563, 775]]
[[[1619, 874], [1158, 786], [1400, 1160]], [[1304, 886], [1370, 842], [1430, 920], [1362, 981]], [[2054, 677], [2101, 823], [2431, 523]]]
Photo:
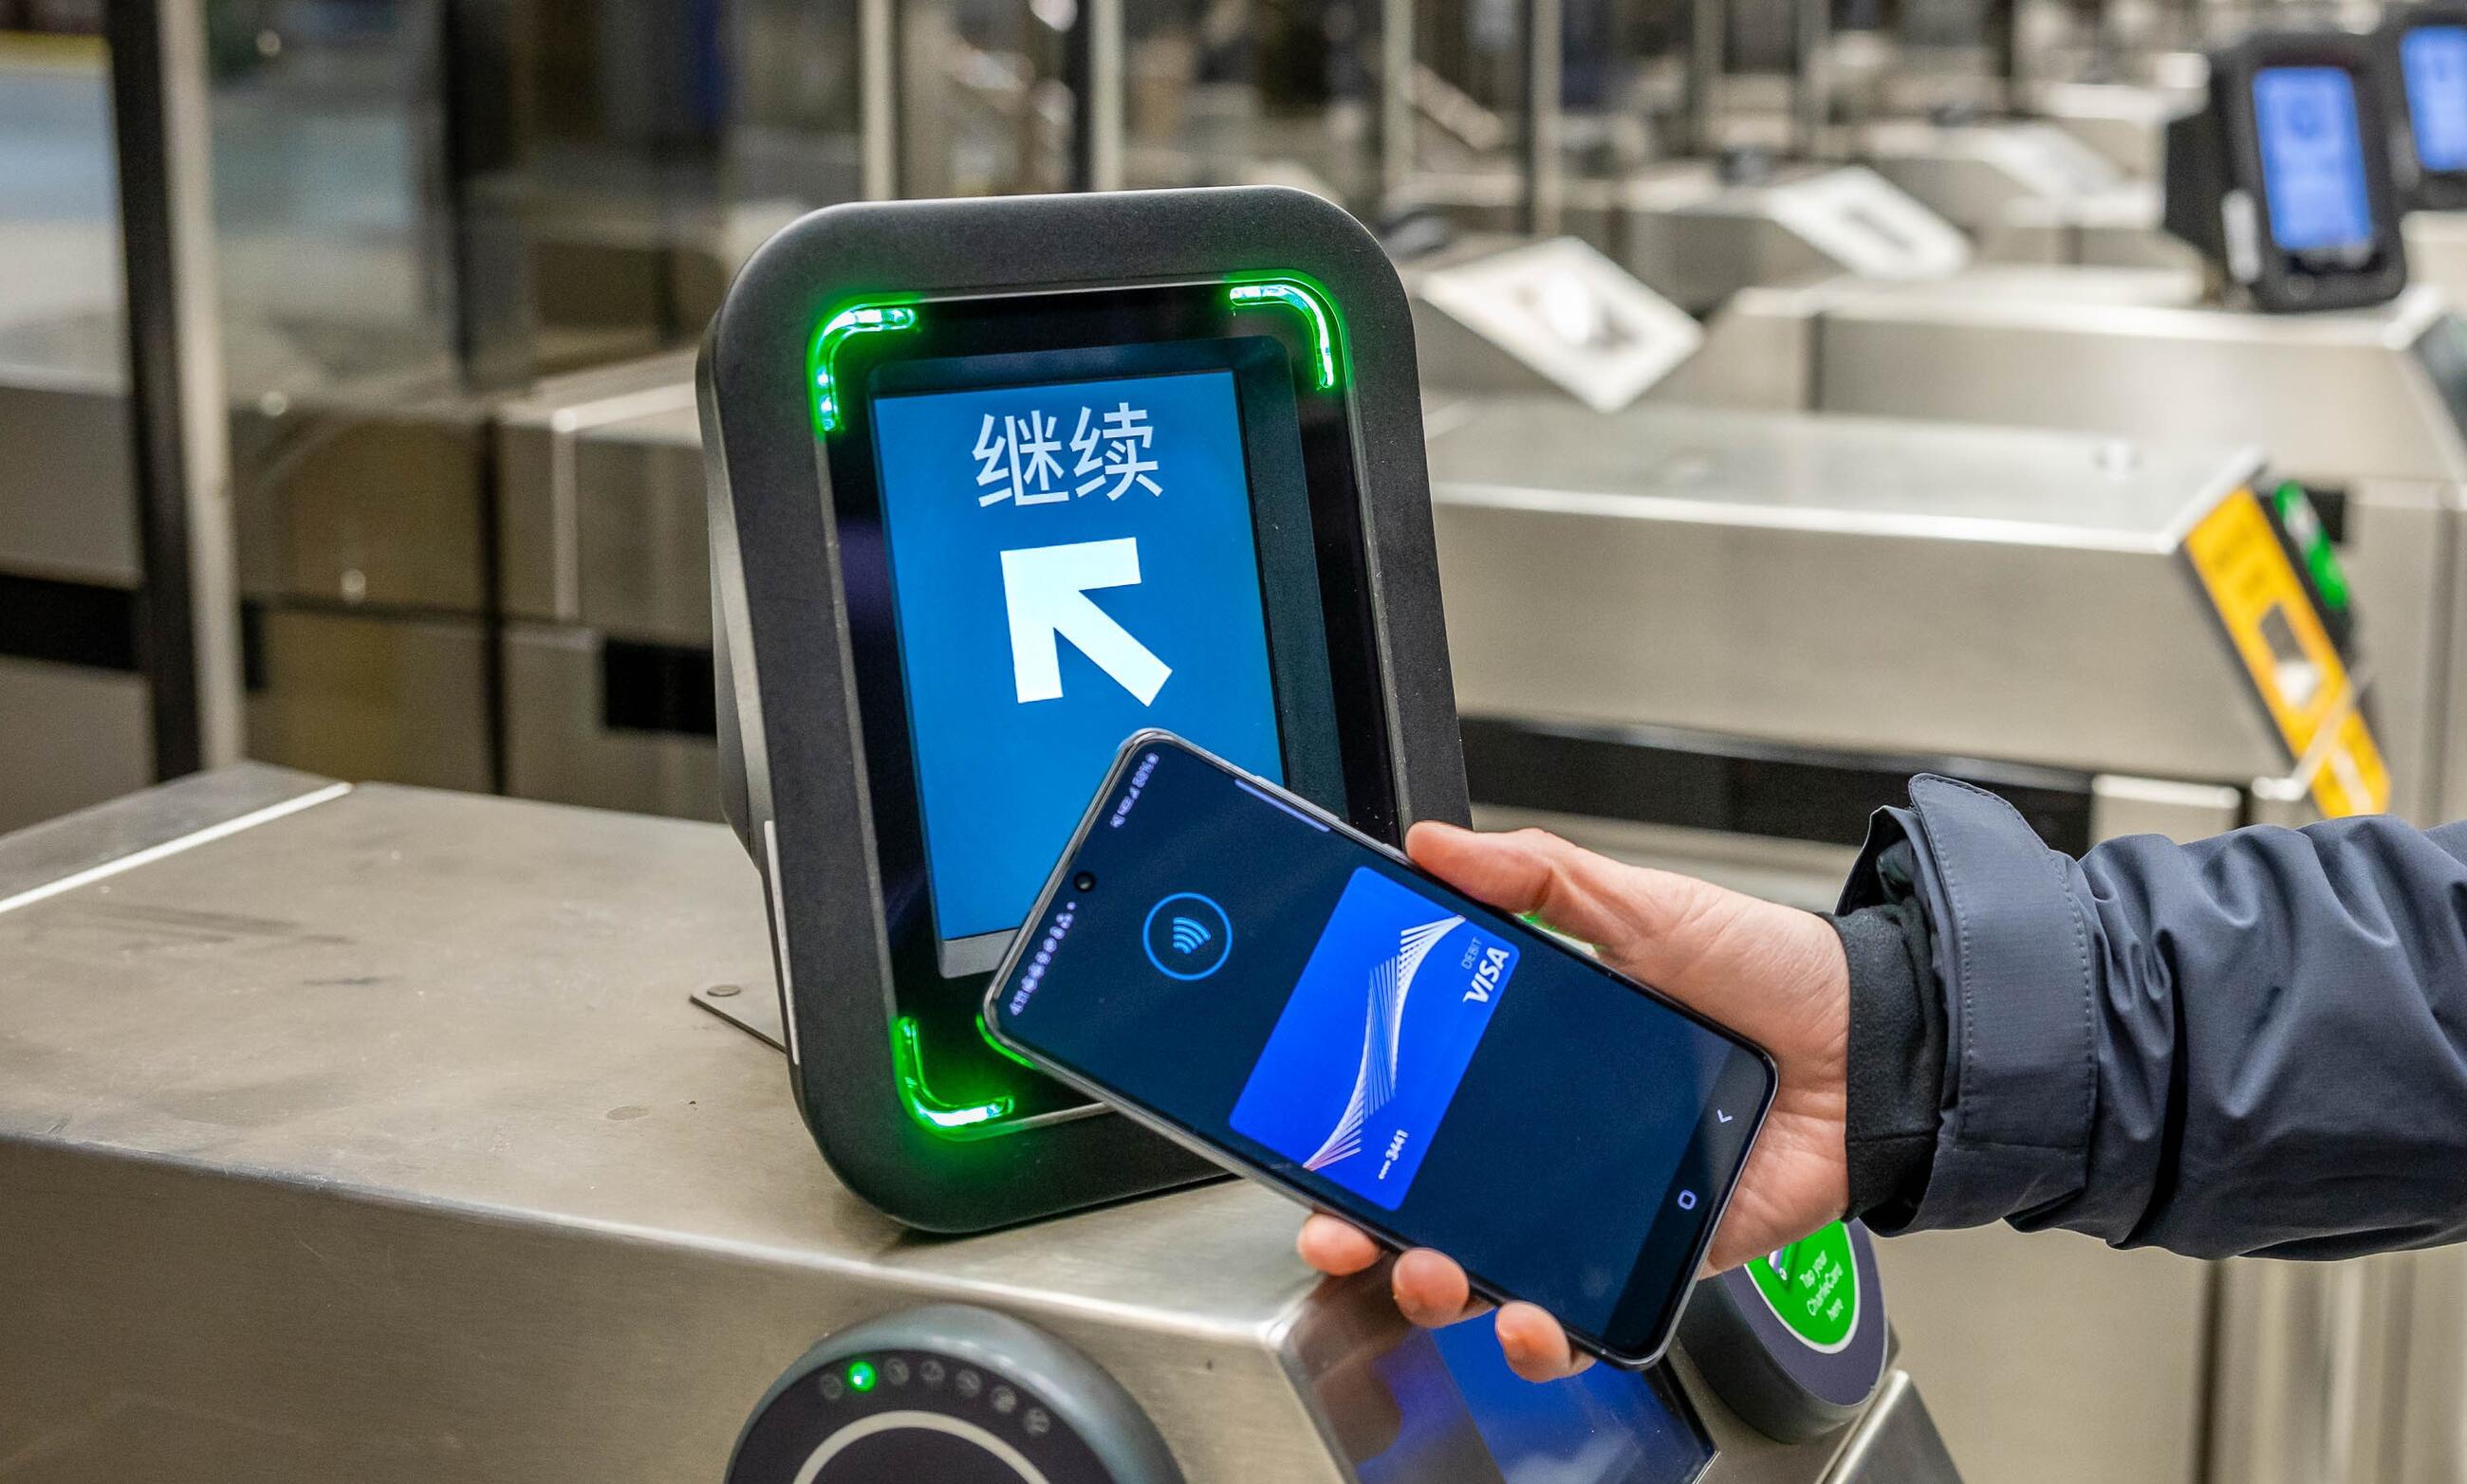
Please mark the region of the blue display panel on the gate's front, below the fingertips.
[[1320, 1383], [1362, 1484], [1687, 1484], [1712, 1442], [1660, 1368], [1532, 1385], [1490, 1316], [1409, 1331]]

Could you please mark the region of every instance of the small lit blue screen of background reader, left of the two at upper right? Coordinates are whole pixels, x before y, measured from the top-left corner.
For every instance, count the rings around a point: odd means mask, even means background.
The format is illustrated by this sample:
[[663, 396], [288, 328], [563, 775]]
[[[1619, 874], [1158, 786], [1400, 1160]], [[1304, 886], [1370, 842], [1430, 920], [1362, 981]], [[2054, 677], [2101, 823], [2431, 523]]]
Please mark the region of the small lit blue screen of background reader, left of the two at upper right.
[[2373, 207], [2349, 71], [2265, 67], [2252, 76], [2252, 121], [2262, 138], [2270, 237], [2284, 251], [2368, 247]]

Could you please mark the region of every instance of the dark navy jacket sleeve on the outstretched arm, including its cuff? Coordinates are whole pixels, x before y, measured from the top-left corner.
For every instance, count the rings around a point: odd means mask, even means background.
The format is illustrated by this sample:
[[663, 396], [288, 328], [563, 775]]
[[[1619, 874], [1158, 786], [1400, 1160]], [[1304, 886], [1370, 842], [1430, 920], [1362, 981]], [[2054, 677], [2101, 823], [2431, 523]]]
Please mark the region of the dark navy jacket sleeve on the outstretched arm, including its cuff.
[[2196, 1257], [2467, 1237], [2467, 823], [2351, 818], [2072, 860], [1922, 777], [1843, 907], [1914, 860], [1944, 996], [1924, 1193], [1880, 1230], [2011, 1220]]

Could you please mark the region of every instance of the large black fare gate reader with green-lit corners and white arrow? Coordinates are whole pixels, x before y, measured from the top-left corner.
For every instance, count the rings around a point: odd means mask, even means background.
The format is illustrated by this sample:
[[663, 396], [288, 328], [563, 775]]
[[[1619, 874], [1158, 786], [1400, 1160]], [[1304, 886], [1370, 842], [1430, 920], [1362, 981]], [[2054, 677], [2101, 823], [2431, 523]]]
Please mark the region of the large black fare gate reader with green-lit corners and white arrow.
[[984, 979], [1140, 727], [1384, 841], [1465, 818], [1396, 271], [1280, 187], [831, 207], [728, 291], [701, 407], [814, 1141], [930, 1230], [1206, 1176], [997, 1050]]

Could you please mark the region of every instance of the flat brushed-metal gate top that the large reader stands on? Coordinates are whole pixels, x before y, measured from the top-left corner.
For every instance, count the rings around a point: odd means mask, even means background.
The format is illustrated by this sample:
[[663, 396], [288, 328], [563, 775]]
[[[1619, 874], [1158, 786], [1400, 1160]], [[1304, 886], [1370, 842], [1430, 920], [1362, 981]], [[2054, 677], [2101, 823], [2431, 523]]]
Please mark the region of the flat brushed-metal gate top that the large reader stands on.
[[1290, 1319], [1295, 1210], [1251, 1186], [967, 1242], [849, 1196], [777, 1053], [688, 1003], [772, 993], [750, 873], [720, 826], [360, 786], [0, 910], [0, 1144], [1221, 1336]]

